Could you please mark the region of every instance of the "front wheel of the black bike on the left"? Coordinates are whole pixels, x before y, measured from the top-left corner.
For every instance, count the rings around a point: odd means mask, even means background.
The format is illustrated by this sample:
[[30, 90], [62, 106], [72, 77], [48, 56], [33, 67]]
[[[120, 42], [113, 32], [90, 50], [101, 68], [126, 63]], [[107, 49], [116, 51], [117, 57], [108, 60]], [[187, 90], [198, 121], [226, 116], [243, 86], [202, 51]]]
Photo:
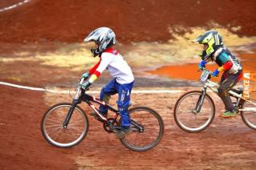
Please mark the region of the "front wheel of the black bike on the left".
[[76, 106], [68, 127], [64, 120], [68, 115], [71, 103], [59, 103], [50, 107], [43, 115], [41, 132], [50, 144], [60, 148], [70, 148], [84, 140], [89, 129], [89, 121], [81, 107]]

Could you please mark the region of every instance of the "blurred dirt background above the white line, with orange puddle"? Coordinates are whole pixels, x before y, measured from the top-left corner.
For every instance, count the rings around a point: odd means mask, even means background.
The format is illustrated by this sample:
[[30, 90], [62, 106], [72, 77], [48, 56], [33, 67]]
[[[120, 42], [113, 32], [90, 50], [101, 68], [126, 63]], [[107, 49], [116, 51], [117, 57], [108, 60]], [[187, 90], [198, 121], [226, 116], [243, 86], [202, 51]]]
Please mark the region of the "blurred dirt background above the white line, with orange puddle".
[[[254, 70], [255, 7], [253, 0], [2, 0], [0, 79], [41, 86], [76, 82], [98, 60], [83, 39], [99, 26], [117, 34], [116, 48], [133, 68], [137, 86], [145, 79], [162, 80], [159, 86], [197, 81], [202, 47], [190, 40], [205, 30], [219, 30], [244, 67]], [[105, 79], [108, 74], [95, 86]]]

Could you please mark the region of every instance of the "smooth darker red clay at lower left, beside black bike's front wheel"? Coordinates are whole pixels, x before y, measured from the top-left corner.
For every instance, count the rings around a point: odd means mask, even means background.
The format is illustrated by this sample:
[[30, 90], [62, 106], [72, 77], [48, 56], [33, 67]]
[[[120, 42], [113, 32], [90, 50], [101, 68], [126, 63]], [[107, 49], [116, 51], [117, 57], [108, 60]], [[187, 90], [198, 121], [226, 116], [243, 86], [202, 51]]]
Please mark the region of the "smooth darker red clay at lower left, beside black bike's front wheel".
[[1, 169], [76, 169], [72, 150], [48, 147], [40, 135], [43, 93], [2, 86], [0, 93]]

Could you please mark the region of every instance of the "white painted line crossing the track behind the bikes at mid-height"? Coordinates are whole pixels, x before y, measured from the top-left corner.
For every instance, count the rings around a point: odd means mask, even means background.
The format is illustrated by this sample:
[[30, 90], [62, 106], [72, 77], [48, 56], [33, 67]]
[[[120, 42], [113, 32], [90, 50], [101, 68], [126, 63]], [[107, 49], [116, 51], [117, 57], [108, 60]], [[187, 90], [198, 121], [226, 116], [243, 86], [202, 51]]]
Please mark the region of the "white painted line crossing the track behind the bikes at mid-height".
[[[0, 85], [22, 88], [22, 89], [27, 89], [27, 90], [31, 90], [31, 91], [47, 91], [47, 92], [51, 92], [51, 93], [64, 93], [64, 94], [69, 93], [69, 91], [67, 91], [67, 90], [66, 91], [56, 91], [56, 90], [51, 90], [51, 89], [46, 89], [46, 88], [21, 86], [21, 85], [17, 85], [14, 83], [6, 83], [6, 82], [0, 82]], [[132, 91], [132, 93], [134, 93], [134, 94], [180, 93], [180, 92], [184, 92], [184, 91], [180, 91], [180, 90], [148, 90], [148, 91], [133, 90]], [[75, 91], [70, 91], [70, 93], [75, 93]], [[98, 94], [98, 93], [100, 93], [100, 91], [88, 91], [88, 93]]]

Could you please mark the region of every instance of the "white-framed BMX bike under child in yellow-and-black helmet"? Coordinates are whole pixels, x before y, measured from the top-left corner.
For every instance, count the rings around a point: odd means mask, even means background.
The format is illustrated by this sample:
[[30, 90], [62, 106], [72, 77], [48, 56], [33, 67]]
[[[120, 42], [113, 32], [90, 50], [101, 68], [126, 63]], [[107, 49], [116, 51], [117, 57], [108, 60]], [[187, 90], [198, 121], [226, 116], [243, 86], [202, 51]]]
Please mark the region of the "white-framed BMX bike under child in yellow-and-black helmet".
[[[203, 89], [188, 91], [175, 103], [175, 123], [185, 132], [201, 132], [213, 122], [216, 110], [213, 99], [207, 94], [207, 89], [217, 94], [219, 85], [210, 79], [210, 71], [204, 69], [200, 75]], [[243, 98], [242, 92], [242, 88], [231, 89], [229, 95], [235, 99], [234, 107], [240, 111], [243, 122], [256, 130], [256, 102]]]

